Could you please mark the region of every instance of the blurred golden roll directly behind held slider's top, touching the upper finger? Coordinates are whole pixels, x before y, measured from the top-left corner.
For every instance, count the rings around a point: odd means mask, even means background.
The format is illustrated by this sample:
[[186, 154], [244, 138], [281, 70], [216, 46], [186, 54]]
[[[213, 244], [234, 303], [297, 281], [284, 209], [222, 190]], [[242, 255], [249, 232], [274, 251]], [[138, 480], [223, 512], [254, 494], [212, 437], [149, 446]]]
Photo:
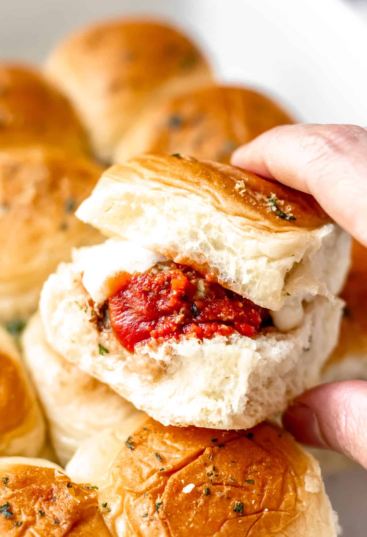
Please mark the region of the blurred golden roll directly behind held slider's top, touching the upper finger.
[[274, 101], [240, 86], [211, 86], [153, 103], [125, 133], [114, 153], [182, 153], [229, 163], [232, 152], [265, 130], [293, 123]]

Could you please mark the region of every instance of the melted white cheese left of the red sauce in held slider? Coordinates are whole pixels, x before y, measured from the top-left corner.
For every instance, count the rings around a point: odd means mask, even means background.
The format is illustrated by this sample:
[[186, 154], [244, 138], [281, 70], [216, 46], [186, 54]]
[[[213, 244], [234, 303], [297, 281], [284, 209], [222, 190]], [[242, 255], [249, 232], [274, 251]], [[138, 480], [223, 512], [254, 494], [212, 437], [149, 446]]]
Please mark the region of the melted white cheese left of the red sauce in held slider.
[[111, 282], [121, 272], [146, 272], [168, 257], [146, 250], [131, 241], [110, 238], [103, 244], [73, 251], [73, 260], [83, 273], [83, 285], [92, 300], [101, 304], [113, 294]]

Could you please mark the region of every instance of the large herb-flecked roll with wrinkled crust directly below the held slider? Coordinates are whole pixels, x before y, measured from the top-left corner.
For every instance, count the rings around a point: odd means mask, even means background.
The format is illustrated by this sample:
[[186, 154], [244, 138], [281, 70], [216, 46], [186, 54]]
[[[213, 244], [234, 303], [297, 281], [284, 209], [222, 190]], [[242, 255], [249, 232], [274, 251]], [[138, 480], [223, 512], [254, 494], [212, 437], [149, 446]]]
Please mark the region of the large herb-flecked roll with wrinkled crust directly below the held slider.
[[219, 431], [148, 419], [98, 496], [114, 537], [336, 535], [318, 463], [266, 422]]

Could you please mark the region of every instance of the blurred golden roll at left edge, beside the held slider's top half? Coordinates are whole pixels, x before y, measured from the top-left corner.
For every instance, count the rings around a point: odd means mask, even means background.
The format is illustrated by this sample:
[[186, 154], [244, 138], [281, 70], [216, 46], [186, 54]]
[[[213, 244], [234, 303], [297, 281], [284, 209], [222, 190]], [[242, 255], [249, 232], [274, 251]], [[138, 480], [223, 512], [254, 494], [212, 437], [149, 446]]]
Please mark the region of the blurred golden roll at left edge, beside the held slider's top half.
[[72, 246], [98, 232], [74, 216], [102, 168], [51, 147], [0, 149], [0, 320], [27, 317], [42, 283]]

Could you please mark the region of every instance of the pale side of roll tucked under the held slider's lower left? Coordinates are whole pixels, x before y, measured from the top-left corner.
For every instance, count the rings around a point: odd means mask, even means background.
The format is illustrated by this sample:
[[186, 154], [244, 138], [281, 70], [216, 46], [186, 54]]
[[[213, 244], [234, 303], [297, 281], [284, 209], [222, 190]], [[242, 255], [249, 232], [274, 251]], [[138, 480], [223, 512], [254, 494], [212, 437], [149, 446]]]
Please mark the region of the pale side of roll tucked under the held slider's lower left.
[[105, 427], [124, 424], [133, 414], [139, 415], [131, 403], [106, 384], [53, 351], [38, 314], [28, 323], [22, 346], [48, 420], [52, 444], [63, 466], [84, 440]]

